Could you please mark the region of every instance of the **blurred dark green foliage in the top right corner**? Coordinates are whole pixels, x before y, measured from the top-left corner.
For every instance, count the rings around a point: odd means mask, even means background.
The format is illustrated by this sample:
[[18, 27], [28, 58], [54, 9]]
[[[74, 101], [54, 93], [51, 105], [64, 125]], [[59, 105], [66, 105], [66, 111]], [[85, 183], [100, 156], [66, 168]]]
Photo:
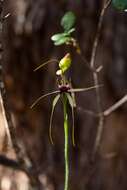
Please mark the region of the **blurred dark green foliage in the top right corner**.
[[121, 11], [125, 11], [127, 9], [127, 0], [113, 0], [113, 6]]

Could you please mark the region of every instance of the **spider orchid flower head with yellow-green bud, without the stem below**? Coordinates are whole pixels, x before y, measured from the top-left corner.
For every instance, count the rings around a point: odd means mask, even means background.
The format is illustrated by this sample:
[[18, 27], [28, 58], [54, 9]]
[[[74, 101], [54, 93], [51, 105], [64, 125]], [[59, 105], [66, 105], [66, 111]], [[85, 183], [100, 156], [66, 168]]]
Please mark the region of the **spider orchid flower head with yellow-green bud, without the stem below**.
[[[34, 71], [37, 71], [38, 69], [44, 67], [45, 65], [47, 65], [48, 63], [51, 62], [58, 62], [58, 60], [53, 59], [53, 60], [49, 60], [47, 62], [45, 62], [44, 64], [40, 65], [39, 67], [37, 67]], [[61, 98], [63, 100], [63, 97], [66, 97], [67, 102], [69, 103], [70, 107], [71, 107], [71, 113], [72, 113], [72, 143], [75, 146], [75, 140], [74, 140], [74, 108], [76, 107], [76, 101], [75, 101], [75, 93], [77, 92], [84, 92], [84, 91], [89, 91], [92, 89], [95, 89], [96, 86], [91, 86], [88, 88], [72, 88], [71, 83], [69, 81], [66, 80], [65, 77], [65, 71], [67, 71], [69, 69], [71, 65], [71, 57], [70, 54], [67, 53], [59, 62], [59, 70], [57, 70], [56, 75], [59, 76], [59, 80], [58, 81], [58, 90], [53, 91], [53, 92], [49, 92], [46, 93], [42, 96], [40, 96], [39, 98], [37, 98], [37, 100], [31, 105], [31, 108], [33, 108], [34, 106], [36, 106], [40, 100], [42, 100], [43, 98], [46, 98], [48, 96], [57, 94], [55, 96], [55, 98], [53, 99], [52, 102], [52, 110], [51, 110], [51, 115], [50, 115], [50, 125], [49, 125], [49, 137], [50, 137], [50, 141], [52, 144], [53, 143], [53, 138], [52, 138], [52, 120], [53, 120], [53, 114], [54, 114], [54, 110], [56, 107], [56, 104], [58, 102], [58, 100]]]

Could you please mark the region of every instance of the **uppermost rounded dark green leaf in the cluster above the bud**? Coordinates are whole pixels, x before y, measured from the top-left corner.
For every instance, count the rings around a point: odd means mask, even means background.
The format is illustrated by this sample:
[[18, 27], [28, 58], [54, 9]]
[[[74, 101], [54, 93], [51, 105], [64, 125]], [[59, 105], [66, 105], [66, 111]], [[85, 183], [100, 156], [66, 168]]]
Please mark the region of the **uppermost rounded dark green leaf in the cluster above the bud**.
[[67, 12], [61, 19], [61, 26], [65, 31], [69, 31], [75, 24], [76, 17], [73, 12]]

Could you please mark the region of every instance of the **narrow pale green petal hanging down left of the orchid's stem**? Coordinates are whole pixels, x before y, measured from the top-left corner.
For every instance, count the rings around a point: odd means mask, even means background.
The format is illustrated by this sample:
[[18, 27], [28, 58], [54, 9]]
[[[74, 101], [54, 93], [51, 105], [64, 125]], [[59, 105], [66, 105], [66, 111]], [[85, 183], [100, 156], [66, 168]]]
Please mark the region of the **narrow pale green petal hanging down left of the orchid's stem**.
[[54, 99], [53, 99], [53, 102], [52, 102], [52, 111], [51, 111], [51, 115], [50, 115], [50, 125], [49, 125], [49, 137], [50, 137], [50, 141], [52, 144], [53, 143], [53, 139], [52, 139], [52, 119], [53, 119], [53, 113], [54, 113], [54, 109], [56, 107], [56, 104], [58, 102], [60, 98], [60, 94], [58, 94]]

